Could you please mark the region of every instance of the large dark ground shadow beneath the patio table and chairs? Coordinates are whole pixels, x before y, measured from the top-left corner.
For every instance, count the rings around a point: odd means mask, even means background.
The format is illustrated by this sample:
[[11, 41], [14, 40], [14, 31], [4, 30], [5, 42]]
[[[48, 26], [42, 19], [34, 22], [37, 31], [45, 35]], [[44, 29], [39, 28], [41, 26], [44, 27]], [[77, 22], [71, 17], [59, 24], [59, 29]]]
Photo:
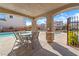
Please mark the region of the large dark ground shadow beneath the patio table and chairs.
[[38, 39], [34, 40], [34, 42], [33, 49], [31, 47], [26, 48], [24, 46], [20, 46], [19, 48], [11, 51], [8, 56], [57, 56], [55, 53], [42, 48]]

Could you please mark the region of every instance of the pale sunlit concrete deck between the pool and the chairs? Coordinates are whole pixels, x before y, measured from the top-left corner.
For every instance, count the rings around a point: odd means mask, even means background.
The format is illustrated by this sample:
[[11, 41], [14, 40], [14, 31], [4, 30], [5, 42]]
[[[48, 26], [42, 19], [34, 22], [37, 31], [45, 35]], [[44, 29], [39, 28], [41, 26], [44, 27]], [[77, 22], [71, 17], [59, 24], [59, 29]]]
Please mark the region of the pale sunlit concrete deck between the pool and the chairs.
[[14, 37], [2, 37], [0, 38], [0, 56], [6, 56], [14, 45]]

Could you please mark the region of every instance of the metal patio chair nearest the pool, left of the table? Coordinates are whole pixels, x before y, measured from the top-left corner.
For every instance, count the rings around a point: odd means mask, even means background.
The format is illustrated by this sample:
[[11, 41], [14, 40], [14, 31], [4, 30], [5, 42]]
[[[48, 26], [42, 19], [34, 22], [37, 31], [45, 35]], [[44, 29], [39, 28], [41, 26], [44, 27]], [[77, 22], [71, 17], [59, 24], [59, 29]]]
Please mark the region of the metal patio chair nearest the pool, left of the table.
[[19, 49], [20, 47], [24, 46], [25, 48], [28, 46], [26, 42], [24, 42], [24, 40], [28, 39], [28, 38], [25, 38], [23, 36], [21, 36], [20, 32], [13, 32], [14, 35], [15, 35], [15, 42], [14, 42], [14, 46], [12, 48], [12, 51], [11, 51], [11, 54], [10, 55], [14, 55], [16, 56], [16, 50]]

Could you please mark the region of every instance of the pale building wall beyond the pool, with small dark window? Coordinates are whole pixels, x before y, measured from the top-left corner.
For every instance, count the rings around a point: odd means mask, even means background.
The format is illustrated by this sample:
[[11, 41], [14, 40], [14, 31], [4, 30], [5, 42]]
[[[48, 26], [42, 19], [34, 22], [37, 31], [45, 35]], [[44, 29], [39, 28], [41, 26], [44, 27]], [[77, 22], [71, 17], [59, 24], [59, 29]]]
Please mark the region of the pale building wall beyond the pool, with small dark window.
[[[13, 16], [13, 18], [10, 18], [10, 15]], [[18, 15], [13, 15], [13, 14], [7, 14], [5, 17], [6, 21], [0, 20], [0, 28], [9, 28], [9, 27], [24, 27], [24, 17], [23, 16], [18, 16]]]

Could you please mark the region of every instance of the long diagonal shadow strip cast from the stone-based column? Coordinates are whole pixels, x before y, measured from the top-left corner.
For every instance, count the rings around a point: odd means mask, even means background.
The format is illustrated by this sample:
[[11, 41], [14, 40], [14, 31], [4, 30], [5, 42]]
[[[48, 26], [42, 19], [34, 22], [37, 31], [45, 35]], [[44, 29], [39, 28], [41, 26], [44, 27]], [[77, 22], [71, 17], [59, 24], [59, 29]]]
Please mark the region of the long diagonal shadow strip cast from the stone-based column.
[[62, 56], [77, 56], [76, 54], [74, 54], [73, 52], [69, 51], [67, 48], [59, 45], [56, 42], [53, 42], [50, 45], [51, 45], [51, 47], [53, 49], [55, 49], [56, 51], [58, 51]]

